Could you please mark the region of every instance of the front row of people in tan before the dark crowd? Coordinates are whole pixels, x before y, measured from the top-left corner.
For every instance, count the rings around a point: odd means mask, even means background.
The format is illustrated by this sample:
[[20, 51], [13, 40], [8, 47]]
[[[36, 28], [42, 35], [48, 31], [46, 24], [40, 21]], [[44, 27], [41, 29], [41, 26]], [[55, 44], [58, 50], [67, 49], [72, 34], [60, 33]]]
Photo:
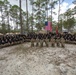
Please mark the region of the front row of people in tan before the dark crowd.
[[51, 40], [49, 40], [48, 38], [45, 38], [45, 39], [39, 39], [39, 38], [34, 39], [34, 38], [32, 38], [31, 39], [31, 47], [34, 47], [34, 46], [43, 47], [44, 43], [45, 43], [46, 47], [48, 47], [49, 42], [51, 43], [52, 47], [55, 47], [55, 44], [57, 45], [57, 47], [60, 47], [60, 46], [65, 47], [65, 40], [63, 37], [61, 37], [61, 38], [58, 37], [56, 39], [54, 37], [52, 37]]

